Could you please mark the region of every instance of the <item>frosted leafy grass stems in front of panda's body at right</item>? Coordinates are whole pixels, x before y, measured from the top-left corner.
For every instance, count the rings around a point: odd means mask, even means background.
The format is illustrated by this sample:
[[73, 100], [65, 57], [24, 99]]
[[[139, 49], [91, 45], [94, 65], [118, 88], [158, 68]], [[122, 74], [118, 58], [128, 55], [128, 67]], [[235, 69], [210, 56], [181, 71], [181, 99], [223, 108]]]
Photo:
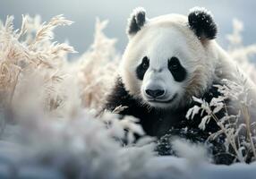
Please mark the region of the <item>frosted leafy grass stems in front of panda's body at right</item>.
[[[206, 113], [207, 115], [201, 118], [199, 128], [205, 130], [206, 125], [210, 120], [214, 120], [218, 126], [219, 131], [214, 132], [209, 136], [209, 141], [218, 139], [218, 136], [224, 134], [226, 152], [235, 157], [240, 162], [251, 162], [255, 160], [255, 122], [251, 122], [250, 108], [252, 101], [247, 97], [248, 89], [244, 88], [243, 83], [236, 83], [234, 81], [223, 80], [223, 85], [216, 85], [218, 91], [222, 94], [218, 98], [212, 98], [210, 102], [201, 98], [193, 98], [199, 106], [194, 106], [189, 109], [187, 118], [192, 119], [194, 115], [199, 113]], [[237, 112], [230, 114], [226, 100], [233, 100], [233, 106], [236, 107]], [[225, 115], [218, 117], [218, 112], [224, 110]], [[230, 148], [231, 151], [230, 151]]]

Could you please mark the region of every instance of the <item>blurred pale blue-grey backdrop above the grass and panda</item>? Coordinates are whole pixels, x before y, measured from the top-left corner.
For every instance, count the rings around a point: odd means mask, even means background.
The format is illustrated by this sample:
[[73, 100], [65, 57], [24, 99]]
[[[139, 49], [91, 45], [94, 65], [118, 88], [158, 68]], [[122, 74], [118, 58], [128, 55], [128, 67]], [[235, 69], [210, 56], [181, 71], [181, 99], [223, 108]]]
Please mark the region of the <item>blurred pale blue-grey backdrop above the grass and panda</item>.
[[69, 20], [75, 21], [70, 27], [61, 27], [55, 30], [55, 40], [64, 42], [67, 39], [80, 53], [83, 53], [93, 40], [94, 24], [96, 18], [109, 20], [106, 34], [110, 38], [117, 38], [116, 48], [122, 53], [127, 38], [125, 27], [127, 18], [132, 9], [143, 6], [148, 17], [155, 17], [166, 13], [187, 14], [193, 6], [204, 6], [214, 14], [218, 22], [218, 42], [222, 47], [227, 46], [226, 34], [230, 33], [234, 18], [243, 21], [244, 45], [255, 42], [255, 7], [254, 0], [2, 0], [0, 1], [0, 18], [5, 20], [6, 15], [13, 14], [15, 27], [21, 27], [21, 14], [29, 13], [31, 16], [39, 14], [42, 21], [48, 21], [57, 14], [64, 14]]

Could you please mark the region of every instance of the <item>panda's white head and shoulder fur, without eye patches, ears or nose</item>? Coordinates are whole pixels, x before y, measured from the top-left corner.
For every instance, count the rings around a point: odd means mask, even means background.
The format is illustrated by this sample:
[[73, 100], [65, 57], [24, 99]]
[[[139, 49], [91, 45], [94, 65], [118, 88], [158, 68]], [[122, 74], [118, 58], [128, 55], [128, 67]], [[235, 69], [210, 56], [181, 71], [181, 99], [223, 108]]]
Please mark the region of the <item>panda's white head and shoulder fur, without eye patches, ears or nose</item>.
[[[136, 77], [135, 69], [143, 56], [149, 56], [149, 70], [143, 81]], [[167, 59], [176, 56], [188, 72], [185, 81], [177, 82], [167, 69]], [[150, 19], [130, 41], [124, 51], [120, 65], [120, 75], [125, 89], [147, 103], [147, 85], [162, 85], [166, 89], [166, 99], [175, 93], [178, 98], [170, 104], [149, 103], [152, 107], [180, 107], [188, 98], [199, 96], [209, 84], [218, 78], [215, 74], [222, 61], [229, 60], [215, 40], [201, 42], [189, 28], [187, 17], [169, 14]], [[232, 64], [232, 63], [231, 63]], [[228, 66], [230, 64], [228, 63]], [[229, 66], [231, 67], [231, 66]], [[162, 72], [156, 72], [162, 68]], [[222, 76], [225, 74], [221, 74]]]

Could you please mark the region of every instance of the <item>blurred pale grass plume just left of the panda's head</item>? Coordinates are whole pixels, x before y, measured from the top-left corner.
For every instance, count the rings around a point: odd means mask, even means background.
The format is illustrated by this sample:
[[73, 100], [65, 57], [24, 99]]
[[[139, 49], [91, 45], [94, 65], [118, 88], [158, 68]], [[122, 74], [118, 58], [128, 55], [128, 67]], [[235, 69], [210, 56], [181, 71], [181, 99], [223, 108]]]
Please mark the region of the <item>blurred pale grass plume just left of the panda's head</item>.
[[120, 56], [115, 51], [116, 40], [102, 32], [106, 26], [107, 21], [97, 19], [94, 42], [76, 64], [84, 107], [100, 108], [114, 84]]

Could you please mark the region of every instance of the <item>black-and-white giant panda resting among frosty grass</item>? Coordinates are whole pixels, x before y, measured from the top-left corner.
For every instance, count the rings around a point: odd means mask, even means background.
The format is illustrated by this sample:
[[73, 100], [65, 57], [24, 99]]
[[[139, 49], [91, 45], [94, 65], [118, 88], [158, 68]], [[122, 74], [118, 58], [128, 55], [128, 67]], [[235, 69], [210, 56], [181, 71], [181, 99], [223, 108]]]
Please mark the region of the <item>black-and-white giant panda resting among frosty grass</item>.
[[[236, 64], [215, 40], [217, 32], [213, 16], [201, 7], [192, 8], [188, 16], [167, 14], [153, 19], [146, 17], [143, 8], [136, 8], [128, 21], [129, 42], [105, 108], [125, 107], [120, 115], [139, 118], [144, 131], [158, 139], [170, 129], [198, 128], [201, 115], [193, 120], [185, 117], [195, 105], [192, 97], [210, 101], [220, 95], [215, 85], [235, 79]], [[201, 135], [218, 130], [210, 121]]]

